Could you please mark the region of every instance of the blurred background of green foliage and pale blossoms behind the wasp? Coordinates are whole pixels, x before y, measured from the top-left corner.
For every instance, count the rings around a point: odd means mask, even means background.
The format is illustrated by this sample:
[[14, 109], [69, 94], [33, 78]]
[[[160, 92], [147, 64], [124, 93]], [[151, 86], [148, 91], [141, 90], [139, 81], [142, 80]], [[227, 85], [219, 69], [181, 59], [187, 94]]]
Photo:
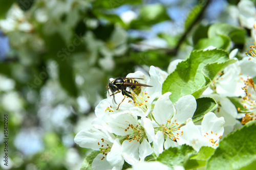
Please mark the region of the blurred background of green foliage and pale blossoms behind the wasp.
[[243, 44], [253, 42], [249, 29], [214, 24], [230, 20], [221, 17], [226, 9], [217, 21], [207, 18], [215, 1], [0, 2], [0, 38], [7, 36], [10, 45], [3, 56], [0, 48], [0, 119], [2, 125], [9, 115], [12, 169], [79, 169], [88, 150], [73, 138], [90, 126], [110, 78], [150, 65], [166, 70], [193, 48], [240, 47], [243, 53]]

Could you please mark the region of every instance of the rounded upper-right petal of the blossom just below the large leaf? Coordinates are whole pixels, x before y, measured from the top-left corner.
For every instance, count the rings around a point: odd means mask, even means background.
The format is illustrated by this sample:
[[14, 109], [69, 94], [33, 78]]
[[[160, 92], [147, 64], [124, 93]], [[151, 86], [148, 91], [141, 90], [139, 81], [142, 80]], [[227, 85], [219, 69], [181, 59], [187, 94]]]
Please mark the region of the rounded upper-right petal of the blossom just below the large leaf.
[[197, 109], [197, 101], [193, 95], [182, 96], [175, 104], [176, 113], [172, 118], [172, 122], [177, 119], [177, 123], [183, 123], [188, 118], [193, 117]]

